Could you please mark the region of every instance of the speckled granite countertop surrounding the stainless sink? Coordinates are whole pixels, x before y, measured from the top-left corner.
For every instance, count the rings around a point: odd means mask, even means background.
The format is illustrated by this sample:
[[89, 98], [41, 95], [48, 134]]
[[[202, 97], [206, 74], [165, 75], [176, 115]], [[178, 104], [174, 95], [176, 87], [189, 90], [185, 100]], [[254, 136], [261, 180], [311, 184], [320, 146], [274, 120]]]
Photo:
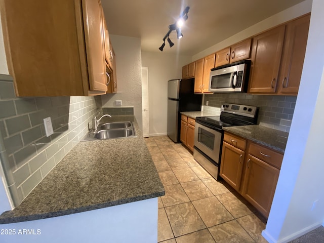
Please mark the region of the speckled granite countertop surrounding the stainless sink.
[[163, 196], [151, 155], [133, 115], [137, 137], [79, 142], [0, 224], [45, 219]]

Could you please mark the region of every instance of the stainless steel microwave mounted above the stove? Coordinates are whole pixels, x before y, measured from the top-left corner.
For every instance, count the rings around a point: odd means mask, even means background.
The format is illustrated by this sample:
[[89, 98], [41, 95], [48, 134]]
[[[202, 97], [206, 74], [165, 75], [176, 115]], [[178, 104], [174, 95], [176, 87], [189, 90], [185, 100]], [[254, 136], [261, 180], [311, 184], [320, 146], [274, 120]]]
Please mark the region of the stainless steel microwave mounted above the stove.
[[247, 92], [251, 61], [244, 60], [211, 69], [209, 91]]

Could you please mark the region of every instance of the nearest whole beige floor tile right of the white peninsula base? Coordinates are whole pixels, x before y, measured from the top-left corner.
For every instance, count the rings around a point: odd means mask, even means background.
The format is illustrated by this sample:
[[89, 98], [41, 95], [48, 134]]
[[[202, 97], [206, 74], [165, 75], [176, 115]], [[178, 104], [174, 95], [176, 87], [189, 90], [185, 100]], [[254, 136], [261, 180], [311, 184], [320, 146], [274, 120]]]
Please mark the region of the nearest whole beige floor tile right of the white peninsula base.
[[175, 237], [206, 228], [191, 203], [166, 208]]

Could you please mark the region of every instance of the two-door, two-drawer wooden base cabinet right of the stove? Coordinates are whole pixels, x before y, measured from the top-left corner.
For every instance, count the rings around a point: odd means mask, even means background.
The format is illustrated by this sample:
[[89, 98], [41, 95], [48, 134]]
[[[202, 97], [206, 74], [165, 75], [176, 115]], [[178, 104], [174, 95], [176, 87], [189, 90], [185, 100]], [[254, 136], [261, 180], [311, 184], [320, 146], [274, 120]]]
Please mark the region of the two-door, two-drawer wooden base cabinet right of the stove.
[[263, 216], [268, 217], [283, 156], [225, 132], [220, 175]]

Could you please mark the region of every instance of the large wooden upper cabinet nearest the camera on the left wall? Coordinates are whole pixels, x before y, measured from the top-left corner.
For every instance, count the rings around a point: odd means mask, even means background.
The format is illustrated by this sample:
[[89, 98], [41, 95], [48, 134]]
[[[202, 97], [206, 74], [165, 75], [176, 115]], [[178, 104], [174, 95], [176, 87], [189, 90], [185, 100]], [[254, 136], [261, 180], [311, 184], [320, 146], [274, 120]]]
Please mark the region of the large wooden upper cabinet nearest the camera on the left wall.
[[106, 93], [100, 0], [0, 3], [7, 62], [17, 96]]

